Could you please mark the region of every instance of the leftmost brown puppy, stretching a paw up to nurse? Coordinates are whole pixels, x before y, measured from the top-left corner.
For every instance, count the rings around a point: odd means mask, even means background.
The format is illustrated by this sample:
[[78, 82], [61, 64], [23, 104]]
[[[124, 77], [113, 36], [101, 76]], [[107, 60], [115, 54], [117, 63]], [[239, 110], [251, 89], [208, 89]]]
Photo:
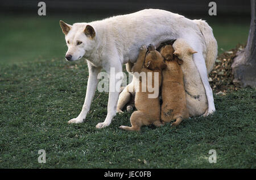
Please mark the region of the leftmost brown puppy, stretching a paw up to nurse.
[[[153, 45], [148, 47], [143, 46], [140, 49], [137, 62], [134, 64], [132, 72], [145, 74], [146, 78], [141, 76], [134, 76], [134, 78], [139, 79], [139, 85], [136, 85], [136, 94], [135, 94], [135, 107], [138, 111], [134, 111], [131, 114], [130, 122], [131, 127], [121, 125], [121, 129], [127, 131], [141, 131], [142, 125], [154, 124], [159, 127], [163, 125], [160, 122], [160, 102], [159, 102], [159, 87], [162, 82], [162, 69], [166, 67], [164, 64], [164, 58]], [[143, 67], [144, 66], [144, 67]], [[158, 78], [155, 77], [155, 73], [158, 73]], [[152, 74], [152, 78], [148, 78]], [[146, 83], [143, 82], [146, 80]], [[153, 95], [155, 92], [151, 92], [150, 84], [155, 86], [155, 81], [158, 81], [158, 86], [154, 87], [158, 90], [158, 93], [154, 95], [154, 98], [150, 98], [150, 95]], [[143, 91], [145, 87], [146, 91]]]

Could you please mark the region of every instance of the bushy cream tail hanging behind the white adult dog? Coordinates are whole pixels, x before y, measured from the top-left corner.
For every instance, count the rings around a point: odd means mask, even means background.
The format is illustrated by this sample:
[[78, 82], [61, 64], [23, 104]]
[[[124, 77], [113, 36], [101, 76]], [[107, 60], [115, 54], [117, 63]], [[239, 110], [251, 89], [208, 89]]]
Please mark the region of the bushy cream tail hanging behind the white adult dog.
[[205, 22], [205, 20], [195, 19], [193, 20], [193, 22], [197, 24], [205, 39], [205, 44], [207, 47], [207, 57], [205, 60], [205, 64], [207, 66], [207, 73], [209, 74], [210, 71], [213, 69], [217, 58], [218, 44], [213, 35], [212, 28], [207, 22]]

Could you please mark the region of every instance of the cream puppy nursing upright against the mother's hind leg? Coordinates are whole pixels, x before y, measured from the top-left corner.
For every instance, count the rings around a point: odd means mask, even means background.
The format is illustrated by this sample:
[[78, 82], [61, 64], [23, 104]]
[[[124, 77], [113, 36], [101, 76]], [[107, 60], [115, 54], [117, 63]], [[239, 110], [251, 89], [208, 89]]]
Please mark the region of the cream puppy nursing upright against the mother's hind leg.
[[184, 85], [189, 116], [203, 115], [208, 109], [207, 96], [199, 72], [193, 61], [196, 53], [184, 39], [177, 39], [174, 44], [174, 54], [183, 60], [181, 70], [184, 76]]

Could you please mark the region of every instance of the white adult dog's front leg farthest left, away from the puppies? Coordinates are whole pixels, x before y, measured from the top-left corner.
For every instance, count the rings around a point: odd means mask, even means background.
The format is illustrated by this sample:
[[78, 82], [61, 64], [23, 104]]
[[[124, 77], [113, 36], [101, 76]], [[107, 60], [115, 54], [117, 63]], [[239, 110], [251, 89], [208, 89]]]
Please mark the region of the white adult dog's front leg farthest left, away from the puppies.
[[82, 123], [86, 118], [87, 113], [90, 110], [90, 104], [92, 103], [92, 99], [94, 97], [96, 87], [98, 84], [98, 73], [100, 73], [101, 68], [96, 68], [88, 61], [88, 69], [89, 69], [89, 78], [87, 82], [86, 95], [84, 105], [82, 106], [82, 111], [80, 112], [77, 118], [73, 118], [69, 120], [68, 123]]

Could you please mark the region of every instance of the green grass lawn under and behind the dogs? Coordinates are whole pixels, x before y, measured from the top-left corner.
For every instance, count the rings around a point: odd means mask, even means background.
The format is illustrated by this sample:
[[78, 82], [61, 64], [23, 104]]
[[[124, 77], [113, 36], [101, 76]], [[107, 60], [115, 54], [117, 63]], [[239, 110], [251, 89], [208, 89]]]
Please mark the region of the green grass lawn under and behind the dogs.
[[[59, 19], [1, 19], [7, 27], [0, 29], [0, 168], [256, 168], [251, 88], [214, 94], [212, 116], [186, 119], [177, 128], [143, 127], [139, 133], [118, 128], [130, 124], [127, 112], [96, 129], [108, 102], [108, 94], [97, 91], [86, 122], [67, 124], [81, 110], [88, 68], [85, 60], [64, 60]], [[220, 51], [245, 43], [247, 25], [213, 22]], [[46, 164], [38, 163], [40, 149], [46, 150]], [[217, 152], [216, 164], [208, 161], [210, 149]]]

